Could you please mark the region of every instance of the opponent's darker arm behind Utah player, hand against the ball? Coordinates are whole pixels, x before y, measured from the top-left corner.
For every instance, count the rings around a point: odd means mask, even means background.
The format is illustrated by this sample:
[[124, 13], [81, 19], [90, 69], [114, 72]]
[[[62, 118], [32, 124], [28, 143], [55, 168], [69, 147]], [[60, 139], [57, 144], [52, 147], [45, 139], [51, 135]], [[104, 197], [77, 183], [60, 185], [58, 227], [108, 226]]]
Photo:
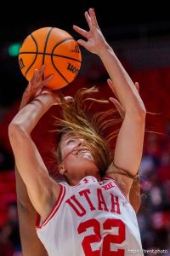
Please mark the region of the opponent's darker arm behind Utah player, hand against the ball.
[[[42, 81], [43, 69], [44, 67], [42, 67], [42, 69], [39, 71], [35, 71], [31, 82], [28, 84], [23, 94], [22, 101], [20, 103], [20, 110], [26, 107], [26, 105], [31, 102], [36, 96], [40, 95], [45, 84], [48, 82], [48, 80], [52, 79], [51, 77]], [[47, 110], [48, 108], [44, 108], [42, 114], [44, 114]], [[40, 117], [41, 115], [38, 119], [40, 119]], [[20, 172], [18, 172], [16, 165], [15, 177], [22, 253], [24, 256], [48, 256], [45, 247], [42, 245], [42, 242], [37, 237], [37, 232], [35, 229], [36, 211], [35, 208], [32, 206], [26, 189], [26, 184], [20, 176]]]

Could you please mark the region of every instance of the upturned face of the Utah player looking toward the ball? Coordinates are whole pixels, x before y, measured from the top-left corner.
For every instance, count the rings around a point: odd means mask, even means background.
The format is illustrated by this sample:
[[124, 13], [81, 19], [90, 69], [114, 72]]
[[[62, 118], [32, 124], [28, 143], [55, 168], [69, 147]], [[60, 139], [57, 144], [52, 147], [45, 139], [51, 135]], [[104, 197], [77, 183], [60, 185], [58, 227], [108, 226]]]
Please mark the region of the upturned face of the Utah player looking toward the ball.
[[83, 138], [65, 135], [61, 139], [60, 149], [62, 164], [67, 172], [73, 175], [83, 172], [85, 175], [94, 175], [94, 172], [99, 172], [88, 144]]

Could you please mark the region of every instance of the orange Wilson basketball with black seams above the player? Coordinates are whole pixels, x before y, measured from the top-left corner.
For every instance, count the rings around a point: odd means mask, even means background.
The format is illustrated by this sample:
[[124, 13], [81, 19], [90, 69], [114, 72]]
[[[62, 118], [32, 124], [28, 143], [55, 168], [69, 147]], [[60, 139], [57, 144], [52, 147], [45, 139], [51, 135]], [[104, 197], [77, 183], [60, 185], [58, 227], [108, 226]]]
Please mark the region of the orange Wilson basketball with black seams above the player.
[[70, 84], [79, 73], [82, 55], [77, 41], [57, 27], [42, 27], [26, 37], [19, 51], [21, 73], [28, 81], [35, 69], [45, 65], [42, 79], [54, 74], [46, 87], [58, 90]]

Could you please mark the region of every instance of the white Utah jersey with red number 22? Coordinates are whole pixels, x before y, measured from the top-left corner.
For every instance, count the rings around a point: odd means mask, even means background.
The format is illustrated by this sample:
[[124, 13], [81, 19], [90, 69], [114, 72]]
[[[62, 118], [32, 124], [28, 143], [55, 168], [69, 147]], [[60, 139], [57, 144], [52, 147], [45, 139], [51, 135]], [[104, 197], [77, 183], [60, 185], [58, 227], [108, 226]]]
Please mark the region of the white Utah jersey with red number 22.
[[144, 255], [136, 214], [115, 180], [88, 176], [60, 186], [54, 209], [36, 227], [49, 256]]

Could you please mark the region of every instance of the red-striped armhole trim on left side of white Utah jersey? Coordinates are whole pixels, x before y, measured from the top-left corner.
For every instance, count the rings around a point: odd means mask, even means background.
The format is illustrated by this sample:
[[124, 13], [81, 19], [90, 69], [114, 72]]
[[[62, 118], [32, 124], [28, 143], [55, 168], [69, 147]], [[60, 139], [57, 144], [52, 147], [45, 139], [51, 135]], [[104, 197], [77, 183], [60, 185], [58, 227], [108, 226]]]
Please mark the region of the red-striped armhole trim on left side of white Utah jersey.
[[42, 222], [40, 225], [40, 215], [37, 213], [37, 220], [36, 220], [36, 229], [40, 230], [42, 227], [44, 227], [46, 224], [48, 224], [49, 220], [54, 217], [54, 214], [59, 209], [61, 202], [63, 201], [65, 197], [65, 186], [62, 184], [59, 184], [60, 191], [59, 191], [59, 197], [57, 201], [55, 202], [54, 208], [51, 210], [51, 212], [48, 214], [48, 217]]

